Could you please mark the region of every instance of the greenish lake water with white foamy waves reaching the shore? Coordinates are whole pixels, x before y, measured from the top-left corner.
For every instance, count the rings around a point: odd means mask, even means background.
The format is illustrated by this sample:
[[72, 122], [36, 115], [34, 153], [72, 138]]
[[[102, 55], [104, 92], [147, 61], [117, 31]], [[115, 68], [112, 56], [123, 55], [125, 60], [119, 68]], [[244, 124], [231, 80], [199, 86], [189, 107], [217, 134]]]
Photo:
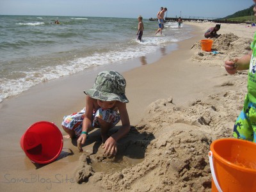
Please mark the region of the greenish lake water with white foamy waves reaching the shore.
[[[54, 24], [59, 20], [60, 24]], [[189, 38], [191, 28], [143, 19], [0, 15], [0, 102], [45, 81], [147, 56]]]

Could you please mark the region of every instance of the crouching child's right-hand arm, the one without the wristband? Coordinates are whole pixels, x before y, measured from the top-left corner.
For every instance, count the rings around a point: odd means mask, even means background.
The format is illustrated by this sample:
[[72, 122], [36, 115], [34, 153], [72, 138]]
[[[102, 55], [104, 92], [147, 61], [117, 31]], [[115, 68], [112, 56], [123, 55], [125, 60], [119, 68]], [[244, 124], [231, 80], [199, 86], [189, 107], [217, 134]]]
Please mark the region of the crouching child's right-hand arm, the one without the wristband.
[[116, 141], [128, 134], [131, 128], [126, 104], [123, 102], [118, 102], [118, 111], [120, 113], [122, 127], [120, 127], [115, 134], [111, 135], [103, 146], [103, 148], [105, 148], [105, 154], [111, 154], [114, 156], [116, 154]]

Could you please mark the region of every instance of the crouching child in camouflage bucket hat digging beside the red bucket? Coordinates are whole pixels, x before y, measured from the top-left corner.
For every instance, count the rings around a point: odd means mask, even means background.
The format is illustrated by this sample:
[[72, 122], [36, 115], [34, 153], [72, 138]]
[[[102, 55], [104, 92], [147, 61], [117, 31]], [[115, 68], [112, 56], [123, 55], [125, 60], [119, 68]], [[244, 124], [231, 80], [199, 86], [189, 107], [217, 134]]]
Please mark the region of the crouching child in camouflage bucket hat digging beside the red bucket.
[[[88, 132], [95, 127], [101, 129], [105, 154], [115, 156], [116, 142], [130, 131], [130, 121], [126, 109], [129, 102], [125, 96], [126, 81], [115, 71], [100, 72], [93, 87], [84, 91], [86, 106], [78, 113], [64, 116], [62, 127], [70, 138], [78, 137], [77, 147], [83, 151]], [[119, 112], [119, 113], [118, 113]], [[122, 127], [108, 137], [108, 131], [121, 120]]]

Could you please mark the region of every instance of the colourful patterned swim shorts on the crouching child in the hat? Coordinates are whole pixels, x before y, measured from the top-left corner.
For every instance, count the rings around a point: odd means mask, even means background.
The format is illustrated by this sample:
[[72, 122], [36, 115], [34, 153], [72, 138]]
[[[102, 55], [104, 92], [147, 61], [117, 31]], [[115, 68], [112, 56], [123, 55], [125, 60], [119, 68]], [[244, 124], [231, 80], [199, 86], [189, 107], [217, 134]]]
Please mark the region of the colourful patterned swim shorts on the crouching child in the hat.
[[[79, 137], [82, 132], [82, 123], [83, 123], [84, 116], [85, 116], [85, 109], [82, 109], [77, 113], [64, 116], [61, 125], [63, 125], [64, 127], [67, 127], [70, 130], [75, 131], [76, 136]], [[118, 124], [118, 122], [120, 121], [120, 115], [115, 110], [113, 109], [103, 110], [102, 108], [99, 108], [97, 111], [93, 111], [92, 126], [90, 127], [88, 132], [92, 131], [95, 127], [100, 127], [98, 118], [113, 124], [113, 127], [116, 124]]]

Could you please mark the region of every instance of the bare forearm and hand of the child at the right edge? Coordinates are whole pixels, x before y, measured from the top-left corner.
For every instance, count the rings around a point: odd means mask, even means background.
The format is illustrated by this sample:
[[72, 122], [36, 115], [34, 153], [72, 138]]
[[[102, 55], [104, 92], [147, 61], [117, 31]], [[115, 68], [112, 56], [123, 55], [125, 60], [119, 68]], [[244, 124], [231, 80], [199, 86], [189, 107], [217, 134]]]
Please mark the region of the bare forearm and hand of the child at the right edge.
[[235, 58], [234, 61], [225, 61], [225, 69], [228, 74], [236, 74], [237, 70], [246, 70], [249, 68], [252, 51], [241, 58]]

